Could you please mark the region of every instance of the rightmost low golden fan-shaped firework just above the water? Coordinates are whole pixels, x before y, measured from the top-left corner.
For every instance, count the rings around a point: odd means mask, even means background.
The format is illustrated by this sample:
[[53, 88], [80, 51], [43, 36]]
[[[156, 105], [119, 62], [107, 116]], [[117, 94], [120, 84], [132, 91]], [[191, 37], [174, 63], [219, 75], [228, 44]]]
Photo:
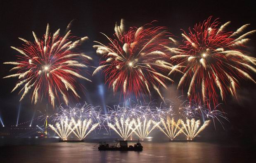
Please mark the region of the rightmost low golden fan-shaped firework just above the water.
[[204, 124], [200, 127], [200, 120], [195, 121], [195, 119], [187, 119], [186, 124], [183, 120], [181, 120], [182, 132], [187, 136], [187, 140], [193, 140], [201, 131], [203, 131], [206, 126], [209, 125], [210, 120], [204, 122]]

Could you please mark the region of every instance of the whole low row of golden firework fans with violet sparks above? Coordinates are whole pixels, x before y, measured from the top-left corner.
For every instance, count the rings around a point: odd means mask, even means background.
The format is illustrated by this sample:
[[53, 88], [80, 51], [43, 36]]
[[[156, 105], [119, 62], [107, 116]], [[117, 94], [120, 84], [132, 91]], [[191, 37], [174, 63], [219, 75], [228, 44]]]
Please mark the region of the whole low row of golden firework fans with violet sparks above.
[[[41, 117], [44, 119], [46, 116]], [[140, 101], [126, 101], [114, 108], [108, 107], [107, 112], [100, 106], [88, 103], [68, 109], [59, 107], [55, 114], [47, 118], [51, 123], [50, 128], [62, 140], [67, 140], [71, 133], [78, 140], [83, 140], [96, 130], [104, 130], [108, 134], [113, 130], [123, 140], [127, 140], [132, 134], [144, 140], [154, 129], [162, 131], [170, 140], [181, 133], [185, 134], [187, 140], [192, 140], [210, 121], [218, 119], [223, 123], [221, 120], [228, 120], [223, 112], [217, 109], [211, 111], [196, 103], [185, 102], [175, 109], [173, 103], [161, 103], [157, 106], [153, 102], [145, 104]]]

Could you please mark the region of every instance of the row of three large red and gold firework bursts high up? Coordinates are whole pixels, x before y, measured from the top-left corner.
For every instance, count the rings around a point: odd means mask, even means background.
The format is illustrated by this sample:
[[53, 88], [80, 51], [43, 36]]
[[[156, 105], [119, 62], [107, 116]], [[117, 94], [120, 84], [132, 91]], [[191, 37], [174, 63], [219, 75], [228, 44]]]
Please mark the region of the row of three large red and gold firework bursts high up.
[[[249, 36], [256, 32], [246, 32], [249, 24], [229, 32], [230, 22], [220, 25], [210, 17], [188, 32], [183, 31], [181, 43], [166, 27], [153, 24], [126, 29], [122, 19], [120, 25], [115, 25], [113, 38], [104, 34], [109, 44], [94, 41], [93, 47], [102, 61], [92, 75], [103, 71], [113, 92], [120, 91], [125, 98], [150, 96], [154, 90], [164, 100], [161, 87], [167, 89], [169, 82], [174, 82], [175, 73], [180, 73], [181, 77], [176, 77], [178, 88], [186, 91], [190, 101], [206, 103], [208, 107], [217, 106], [219, 99], [225, 101], [228, 94], [236, 98], [239, 81], [256, 83], [251, 76], [256, 72], [256, 58], [244, 49]], [[10, 71], [17, 72], [4, 78], [19, 78], [12, 92], [20, 88], [20, 100], [30, 93], [34, 104], [47, 96], [54, 107], [56, 101], [68, 105], [71, 96], [80, 98], [77, 87], [84, 88], [78, 78], [91, 82], [81, 73], [90, 74], [92, 57], [79, 51], [88, 37], [71, 36], [70, 26], [62, 36], [60, 30], [51, 34], [47, 25], [42, 39], [33, 32], [35, 41], [19, 38], [24, 45], [12, 46], [19, 52], [17, 60], [4, 64], [14, 65]]]

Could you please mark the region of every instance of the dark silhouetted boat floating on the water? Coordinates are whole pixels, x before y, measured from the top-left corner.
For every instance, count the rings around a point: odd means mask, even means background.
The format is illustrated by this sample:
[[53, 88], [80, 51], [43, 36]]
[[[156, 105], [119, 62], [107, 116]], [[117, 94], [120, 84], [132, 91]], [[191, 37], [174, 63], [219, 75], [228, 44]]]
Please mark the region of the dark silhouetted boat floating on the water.
[[127, 140], [120, 140], [116, 143], [104, 142], [104, 144], [102, 144], [102, 142], [100, 142], [98, 149], [99, 151], [142, 151], [143, 146], [141, 145], [140, 140], [138, 140], [134, 146], [129, 145], [129, 147]]

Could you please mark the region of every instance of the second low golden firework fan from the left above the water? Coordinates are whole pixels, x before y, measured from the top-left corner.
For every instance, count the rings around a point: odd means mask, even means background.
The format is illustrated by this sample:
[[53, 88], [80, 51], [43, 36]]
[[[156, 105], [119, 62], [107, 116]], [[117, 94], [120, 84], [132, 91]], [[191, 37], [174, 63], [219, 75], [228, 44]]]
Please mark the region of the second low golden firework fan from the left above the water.
[[75, 119], [72, 119], [72, 122], [75, 126], [74, 130], [72, 131], [79, 140], [85, 139], [85, 137], [99, 125], [99, 123], [93, 124], [90, 128], [90, 125], [92, 124], [92, 119], [85, 119], [83, 122], [80, 119], [78, 119], [77, 122], [75, 121]]

